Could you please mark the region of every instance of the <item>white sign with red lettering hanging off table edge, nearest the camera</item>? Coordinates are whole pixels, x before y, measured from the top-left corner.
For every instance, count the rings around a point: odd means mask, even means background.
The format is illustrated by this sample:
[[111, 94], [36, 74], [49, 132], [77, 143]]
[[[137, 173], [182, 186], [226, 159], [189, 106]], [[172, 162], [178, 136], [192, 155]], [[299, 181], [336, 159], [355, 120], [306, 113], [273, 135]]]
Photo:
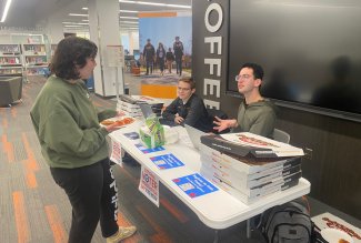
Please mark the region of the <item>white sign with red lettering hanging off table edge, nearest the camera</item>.
[[159, 207], [159, 179], [144, 166], [141, 169], [139, 191]]

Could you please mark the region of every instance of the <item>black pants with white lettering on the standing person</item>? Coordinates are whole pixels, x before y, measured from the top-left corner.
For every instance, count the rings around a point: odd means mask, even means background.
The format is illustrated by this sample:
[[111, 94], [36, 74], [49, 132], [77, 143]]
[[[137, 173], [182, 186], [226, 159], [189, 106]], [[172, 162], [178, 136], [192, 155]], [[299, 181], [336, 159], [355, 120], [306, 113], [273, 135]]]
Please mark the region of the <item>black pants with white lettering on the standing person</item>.
[[69, 243], [89, 243], [100, 220], [104, 237], [117, 233], [118, 189], [109, 159], [77, 169], [50, 169], [72, 206]]

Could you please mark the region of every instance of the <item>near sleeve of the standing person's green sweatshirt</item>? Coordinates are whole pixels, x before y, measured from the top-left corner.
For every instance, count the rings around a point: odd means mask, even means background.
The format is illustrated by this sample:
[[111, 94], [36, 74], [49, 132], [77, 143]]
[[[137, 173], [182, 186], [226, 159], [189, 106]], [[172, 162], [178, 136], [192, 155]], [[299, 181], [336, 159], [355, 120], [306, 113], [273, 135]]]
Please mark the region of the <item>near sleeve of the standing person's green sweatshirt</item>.
[[108, 131], [100, 126], [79, 128], [71, 114], [61, 109], [51, 113], [39, 131], [51, 150], [80, 158], [94, 154], [106, 142], [107, 134]]

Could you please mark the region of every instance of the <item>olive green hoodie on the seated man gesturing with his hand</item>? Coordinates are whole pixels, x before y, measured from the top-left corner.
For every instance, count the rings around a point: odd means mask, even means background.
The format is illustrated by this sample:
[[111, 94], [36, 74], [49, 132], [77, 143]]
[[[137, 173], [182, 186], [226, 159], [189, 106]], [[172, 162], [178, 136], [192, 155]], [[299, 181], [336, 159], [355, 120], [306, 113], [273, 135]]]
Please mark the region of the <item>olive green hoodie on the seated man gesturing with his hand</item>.
[[237, 122], [239, 126], [232, 132], [251, 132], [272, 138], [275, 125], [275, 107], [271, 101], [262, 100], [245, 104], [244, 100], [238, 109]]

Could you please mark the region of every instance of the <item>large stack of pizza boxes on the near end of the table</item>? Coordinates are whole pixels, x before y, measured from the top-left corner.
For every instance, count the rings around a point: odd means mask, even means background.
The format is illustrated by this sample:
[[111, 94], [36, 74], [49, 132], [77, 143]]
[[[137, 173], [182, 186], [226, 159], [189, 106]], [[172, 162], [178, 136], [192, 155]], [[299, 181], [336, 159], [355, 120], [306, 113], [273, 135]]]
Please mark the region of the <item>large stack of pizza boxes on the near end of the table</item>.
[[249, 204], [298, 184], [303, 151], [252, 133], [201, 136], [201, 174]]

